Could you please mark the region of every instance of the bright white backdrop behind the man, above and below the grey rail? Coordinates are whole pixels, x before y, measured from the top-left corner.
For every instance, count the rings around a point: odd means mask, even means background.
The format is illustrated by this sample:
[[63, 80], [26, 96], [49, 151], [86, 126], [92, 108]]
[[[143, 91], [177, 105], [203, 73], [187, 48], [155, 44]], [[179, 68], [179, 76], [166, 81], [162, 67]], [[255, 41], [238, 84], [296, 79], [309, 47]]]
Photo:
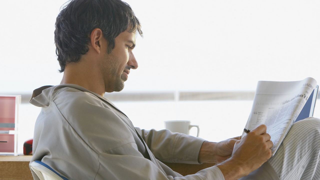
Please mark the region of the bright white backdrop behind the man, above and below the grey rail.
[[[144, 38], [137, 37], [139, 68], [124, 91], [253, 91], [258, 80], [320, 81], [320, 1], [126, 2]], [[53, 31], [64, 3], [0, 2], [0, 93], [31, 94], [60, 83]], [[251, 110], [251, 101], [116, 105], [135, 126], [161, 129], [164, 120], [191, 120], [200, 125], [200, 137], [211, 141], [240, 135]], [[39, 110], [20, 106], [20, 146], [33, 136]]]

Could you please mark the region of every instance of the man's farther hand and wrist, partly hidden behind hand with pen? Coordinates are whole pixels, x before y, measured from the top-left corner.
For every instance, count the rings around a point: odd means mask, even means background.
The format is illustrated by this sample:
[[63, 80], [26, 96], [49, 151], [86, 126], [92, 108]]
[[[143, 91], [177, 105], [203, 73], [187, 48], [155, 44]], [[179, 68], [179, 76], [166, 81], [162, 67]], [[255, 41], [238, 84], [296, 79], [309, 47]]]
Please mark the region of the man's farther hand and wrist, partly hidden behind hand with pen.
[[198, 161], [200, 163], [220, 163], [230, 158], [235, 143], [241, 136], [230, 138], [219, 143], [205, 141], [200, 149]]

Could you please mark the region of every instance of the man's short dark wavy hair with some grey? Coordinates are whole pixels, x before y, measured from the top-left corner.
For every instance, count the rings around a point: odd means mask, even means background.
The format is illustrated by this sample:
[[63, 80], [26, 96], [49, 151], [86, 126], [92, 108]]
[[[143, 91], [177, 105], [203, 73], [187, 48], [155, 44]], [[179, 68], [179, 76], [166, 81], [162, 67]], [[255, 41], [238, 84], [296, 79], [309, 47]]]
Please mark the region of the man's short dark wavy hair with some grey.
[[59, 72], [89, 51], [90, 35], [95, 28], [100, 28], [108, 41], [107, 53], [115, 47], [115, 38], [120, 33], [128, 30], [143, 34], [130, 5], [121, 0], [70, 0], [66, 4], [57, 17], [54, 31]]

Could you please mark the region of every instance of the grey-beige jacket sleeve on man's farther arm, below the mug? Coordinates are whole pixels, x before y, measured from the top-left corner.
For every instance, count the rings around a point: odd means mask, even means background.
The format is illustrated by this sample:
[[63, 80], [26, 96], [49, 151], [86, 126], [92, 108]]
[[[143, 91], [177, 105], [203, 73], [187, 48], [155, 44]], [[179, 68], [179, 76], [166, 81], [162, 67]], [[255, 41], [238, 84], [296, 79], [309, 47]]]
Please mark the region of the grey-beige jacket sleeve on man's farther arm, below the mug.
[[199, 164], [199, 151], [204, 139], [172, 133], [169, 130], [147, 131], [136, 128], [155, 157], [163, 162]]

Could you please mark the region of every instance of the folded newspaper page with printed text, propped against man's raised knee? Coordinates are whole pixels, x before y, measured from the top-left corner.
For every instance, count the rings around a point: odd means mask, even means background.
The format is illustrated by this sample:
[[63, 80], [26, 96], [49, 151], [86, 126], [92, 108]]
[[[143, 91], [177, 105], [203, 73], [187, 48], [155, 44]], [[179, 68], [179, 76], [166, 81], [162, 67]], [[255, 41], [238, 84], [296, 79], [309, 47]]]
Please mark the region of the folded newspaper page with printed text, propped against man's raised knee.
[[[297, 119], [315, 86], [316, 80], [313, 78], [290, 82], [258, 82], [245, 128], [252, 130], [261, 124], [267, 126], [267, 133], [274, 144], [271, 148], [272, 156]], [[243, 133], [244, 136], [245, 133]]]

